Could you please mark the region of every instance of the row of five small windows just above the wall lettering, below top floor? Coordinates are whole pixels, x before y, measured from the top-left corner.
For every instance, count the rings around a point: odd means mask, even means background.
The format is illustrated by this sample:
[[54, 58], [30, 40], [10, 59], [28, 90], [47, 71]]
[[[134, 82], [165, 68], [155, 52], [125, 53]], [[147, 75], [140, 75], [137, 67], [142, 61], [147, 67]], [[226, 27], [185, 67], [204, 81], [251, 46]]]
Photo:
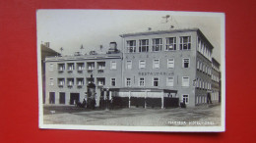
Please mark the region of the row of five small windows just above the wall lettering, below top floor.
[[[183, 58], [182, 59], [182, 68], [189, 68], [190, 59]], [[167, 68], [173, 69], [174, 68], [174, 59], [167, 59]], [[132, 68], [132, 60], [126, 61], [126, 69], [131, 70]], [[146, 69], [146, 60], [139, 61], [139, 69]], [[160, 69], [160, 59], [153, 60], [153, 69]]]

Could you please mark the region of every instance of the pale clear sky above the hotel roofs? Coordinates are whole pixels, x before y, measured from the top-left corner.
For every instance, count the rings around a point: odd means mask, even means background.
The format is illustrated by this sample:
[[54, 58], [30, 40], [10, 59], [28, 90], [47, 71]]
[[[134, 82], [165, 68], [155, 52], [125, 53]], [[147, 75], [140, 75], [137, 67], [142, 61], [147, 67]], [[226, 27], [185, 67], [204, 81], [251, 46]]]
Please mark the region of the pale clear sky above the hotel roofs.
[[[167, 21], [163, 17], [170, 16]], [[198, 27], [214, 46], [213, 57], [221, 62], [224, 51], [224, 21], [221, 13], [124, 10], [38, 10], [37, 47], [50, 42], [50, 48], [62, 55], [75, 52], [106, 52], [110, 42], [122, 50], [124, 33]], [[81, 50], [83, 45], [84, 49]], [[60, 48], [63, 47], [63, 51]], [[222, 49], [222, 50], [221, 50]]]

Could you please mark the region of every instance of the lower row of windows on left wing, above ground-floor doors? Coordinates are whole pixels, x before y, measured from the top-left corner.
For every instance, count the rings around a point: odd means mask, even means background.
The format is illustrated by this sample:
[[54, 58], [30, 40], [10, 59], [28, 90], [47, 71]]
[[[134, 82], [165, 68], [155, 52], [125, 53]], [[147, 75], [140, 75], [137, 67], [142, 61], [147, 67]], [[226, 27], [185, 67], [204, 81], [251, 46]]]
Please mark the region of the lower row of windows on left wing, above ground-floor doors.
[[[91, 83], [91, 82], [95, 82], [95, 79], [93, 78], [93, 80], [92, 80], [92, 78], [87, 78], [87, 83]], [[69, 87], [72, 87], [74, 85], [83, 86], [83, 85], [85, 85], [84, 83], [85, 83], [85, 81], [84, 81], [84, 78], [82, 78], [82, 77], [81, 78], [76, 78], [76, 82], [75, 82], [75, 78], [66, 78], [66, 79], [65, 78], [58, 78], [57, 79], [57, 85], [61, 86], [61, 87], [63, 87], [66, 84]], [[105, 85], [105, 78], [104, 77], [97, 77], [96, 78], [96, 84], [98, 86]], [[54, 85], [53, 78], [50, 78], [49, 85], [51, 85], [51, 86]], [[110, 85], [111, 86], [116, 86], [116, 78], [110, 78]]]

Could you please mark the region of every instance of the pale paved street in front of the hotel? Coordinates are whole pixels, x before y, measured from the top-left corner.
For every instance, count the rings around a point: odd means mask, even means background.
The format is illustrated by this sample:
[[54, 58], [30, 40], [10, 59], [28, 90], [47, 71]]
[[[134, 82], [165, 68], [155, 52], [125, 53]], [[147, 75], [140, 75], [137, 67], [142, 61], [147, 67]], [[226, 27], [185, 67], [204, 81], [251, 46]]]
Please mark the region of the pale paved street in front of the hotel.
[[75, 107], [44, 107], [45, 124], [133, 125], [133, 126], [217, 126], [221, 105], [191, 109], [87, 110]]

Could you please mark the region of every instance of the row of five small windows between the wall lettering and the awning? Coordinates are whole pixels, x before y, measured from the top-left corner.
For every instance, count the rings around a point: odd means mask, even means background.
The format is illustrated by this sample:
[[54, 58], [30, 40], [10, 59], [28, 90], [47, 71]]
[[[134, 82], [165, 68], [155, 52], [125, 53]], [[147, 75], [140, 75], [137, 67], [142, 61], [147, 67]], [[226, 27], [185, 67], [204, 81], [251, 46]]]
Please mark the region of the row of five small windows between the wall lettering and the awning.
[[[132, 84], [132, 78], [127, 77], [125, 79], [125, 86], [130, 87]], [[153, 82], [152, 82], [153, 86], [160, 86], [160, 78], [159, 77], [153, 77]], [[145, 86], [145, 77], [140, 77], [139, 78], [139, 82], [138, 82], [138, 86]], [[173, 76], [169, 76], [166, 77], [166, 86], [174, 86], [174, 77]], [[183, 87], [188, 87], [189, 86], [189, 76], [182, 76], [182, 86]]]

